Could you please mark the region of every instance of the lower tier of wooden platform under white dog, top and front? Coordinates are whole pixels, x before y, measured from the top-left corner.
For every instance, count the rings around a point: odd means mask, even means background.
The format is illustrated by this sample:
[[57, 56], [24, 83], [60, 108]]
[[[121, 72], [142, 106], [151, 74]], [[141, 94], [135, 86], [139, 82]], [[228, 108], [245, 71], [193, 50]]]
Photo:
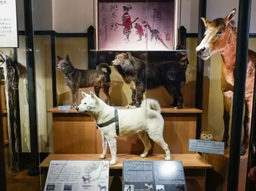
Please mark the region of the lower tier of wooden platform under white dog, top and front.
[[[111, 155], [107, 155], [105, 160], [110, 160]], [[204, 161], [199, 154], [171, 154], [173, 161], [182, 161], [185, 171], [187, 190], [188, 191], [204, 191], [206, 171], [211, 169], [211, 165]], [[40, 164], [44, 175], [47, 175], [47, 170], [51, 160], [99, 160], [99, 154], [50, 154]], [[121, 176], [123, 171], [123, 161], [163, 161], [164, 155], [153, 155], [147, 158], [141, 158], [138, 155], [119, 154], [117, 155], [117, 164], [109, 166], [109, 191], [122, 190]]]

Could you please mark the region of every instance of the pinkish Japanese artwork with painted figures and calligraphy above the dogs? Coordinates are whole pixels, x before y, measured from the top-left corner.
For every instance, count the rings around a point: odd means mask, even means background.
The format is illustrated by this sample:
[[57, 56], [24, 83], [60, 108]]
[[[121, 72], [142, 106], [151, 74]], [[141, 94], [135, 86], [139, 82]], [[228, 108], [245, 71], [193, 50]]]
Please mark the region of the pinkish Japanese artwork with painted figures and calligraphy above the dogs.
[[173, 50], [174, 2], [99, 3], [99, 50]]

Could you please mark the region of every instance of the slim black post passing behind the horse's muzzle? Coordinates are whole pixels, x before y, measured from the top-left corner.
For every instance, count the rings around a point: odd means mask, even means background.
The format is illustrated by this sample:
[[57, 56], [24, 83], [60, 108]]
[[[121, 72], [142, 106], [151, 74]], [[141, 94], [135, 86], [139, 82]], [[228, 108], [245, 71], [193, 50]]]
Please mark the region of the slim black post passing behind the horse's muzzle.
[[[206, 0], [199, 1], [198, 12], [198, 45], [204, 38], [205, 26], [201, 17], [206, 17]], [[197, 78], [196, 78], [196, 108], [202, 110], [203, 107], [203, 80], [204, 80], [204, 60], [197, 56]], [[202, 113], [197, 114], [196, 139], [200, 138], [202, 129]]]

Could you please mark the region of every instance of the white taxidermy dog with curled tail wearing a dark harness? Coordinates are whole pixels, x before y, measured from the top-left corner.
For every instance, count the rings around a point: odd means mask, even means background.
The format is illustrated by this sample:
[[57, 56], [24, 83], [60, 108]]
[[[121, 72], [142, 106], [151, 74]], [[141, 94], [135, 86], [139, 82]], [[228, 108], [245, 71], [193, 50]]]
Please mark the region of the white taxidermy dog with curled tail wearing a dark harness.
[[[90, 92], [90, 94], [82, 92], [82, 95], [83, 99], [76, 110], [80, 113], [88, 113], [99, 127], [99, 124], [107, 124], [106, 122], [115, 118], [115, 109], [99, 99], [93, 92]], [[146, 157], [151, 148], [150, 137], [166, 152], [165, 160], [170, 160], [170, 151], [163, 139], [164, 120], [161, 116], [161, 107], [158, 101], [145, 99], [142, 101], [141, 107], [132, 110], [117, 110], [117, 113], [119, 131], [117, 131], [115, 122], [99, 128], [103, 146], [100, 158], [105, 158], [108, 143], [112, 156], [109, 164], [115, 164], [117, 158], [117, 134], [119, 133], [119, 136], [130, 136], [138, 133], [145, 146], [141, 157]]]

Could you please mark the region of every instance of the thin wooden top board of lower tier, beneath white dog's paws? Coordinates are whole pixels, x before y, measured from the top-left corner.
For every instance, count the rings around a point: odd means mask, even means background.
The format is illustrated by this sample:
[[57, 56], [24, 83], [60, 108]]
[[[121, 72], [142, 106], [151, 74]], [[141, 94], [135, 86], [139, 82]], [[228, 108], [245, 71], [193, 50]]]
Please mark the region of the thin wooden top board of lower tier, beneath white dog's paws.
[[[40, 164], [41, 168], [48, 168], [51, 160], [100, 160], [100, 154], [50, 154]], [[123, 169], [123, 161], [163, 161], [165, 155], [151, 155], [147, 158], [142, 158], [139, 155], [118, 154], [117, 163], [109, 166], [110, 169]], [[198, 153], [194, 154], [171, 154], [170, 158], [173, 161], [182, 161], [185, 169], [209, 169], [211, 164], [204, 160]], [[111, 155], [108, 154], [104, 160], [111, 160]]]

